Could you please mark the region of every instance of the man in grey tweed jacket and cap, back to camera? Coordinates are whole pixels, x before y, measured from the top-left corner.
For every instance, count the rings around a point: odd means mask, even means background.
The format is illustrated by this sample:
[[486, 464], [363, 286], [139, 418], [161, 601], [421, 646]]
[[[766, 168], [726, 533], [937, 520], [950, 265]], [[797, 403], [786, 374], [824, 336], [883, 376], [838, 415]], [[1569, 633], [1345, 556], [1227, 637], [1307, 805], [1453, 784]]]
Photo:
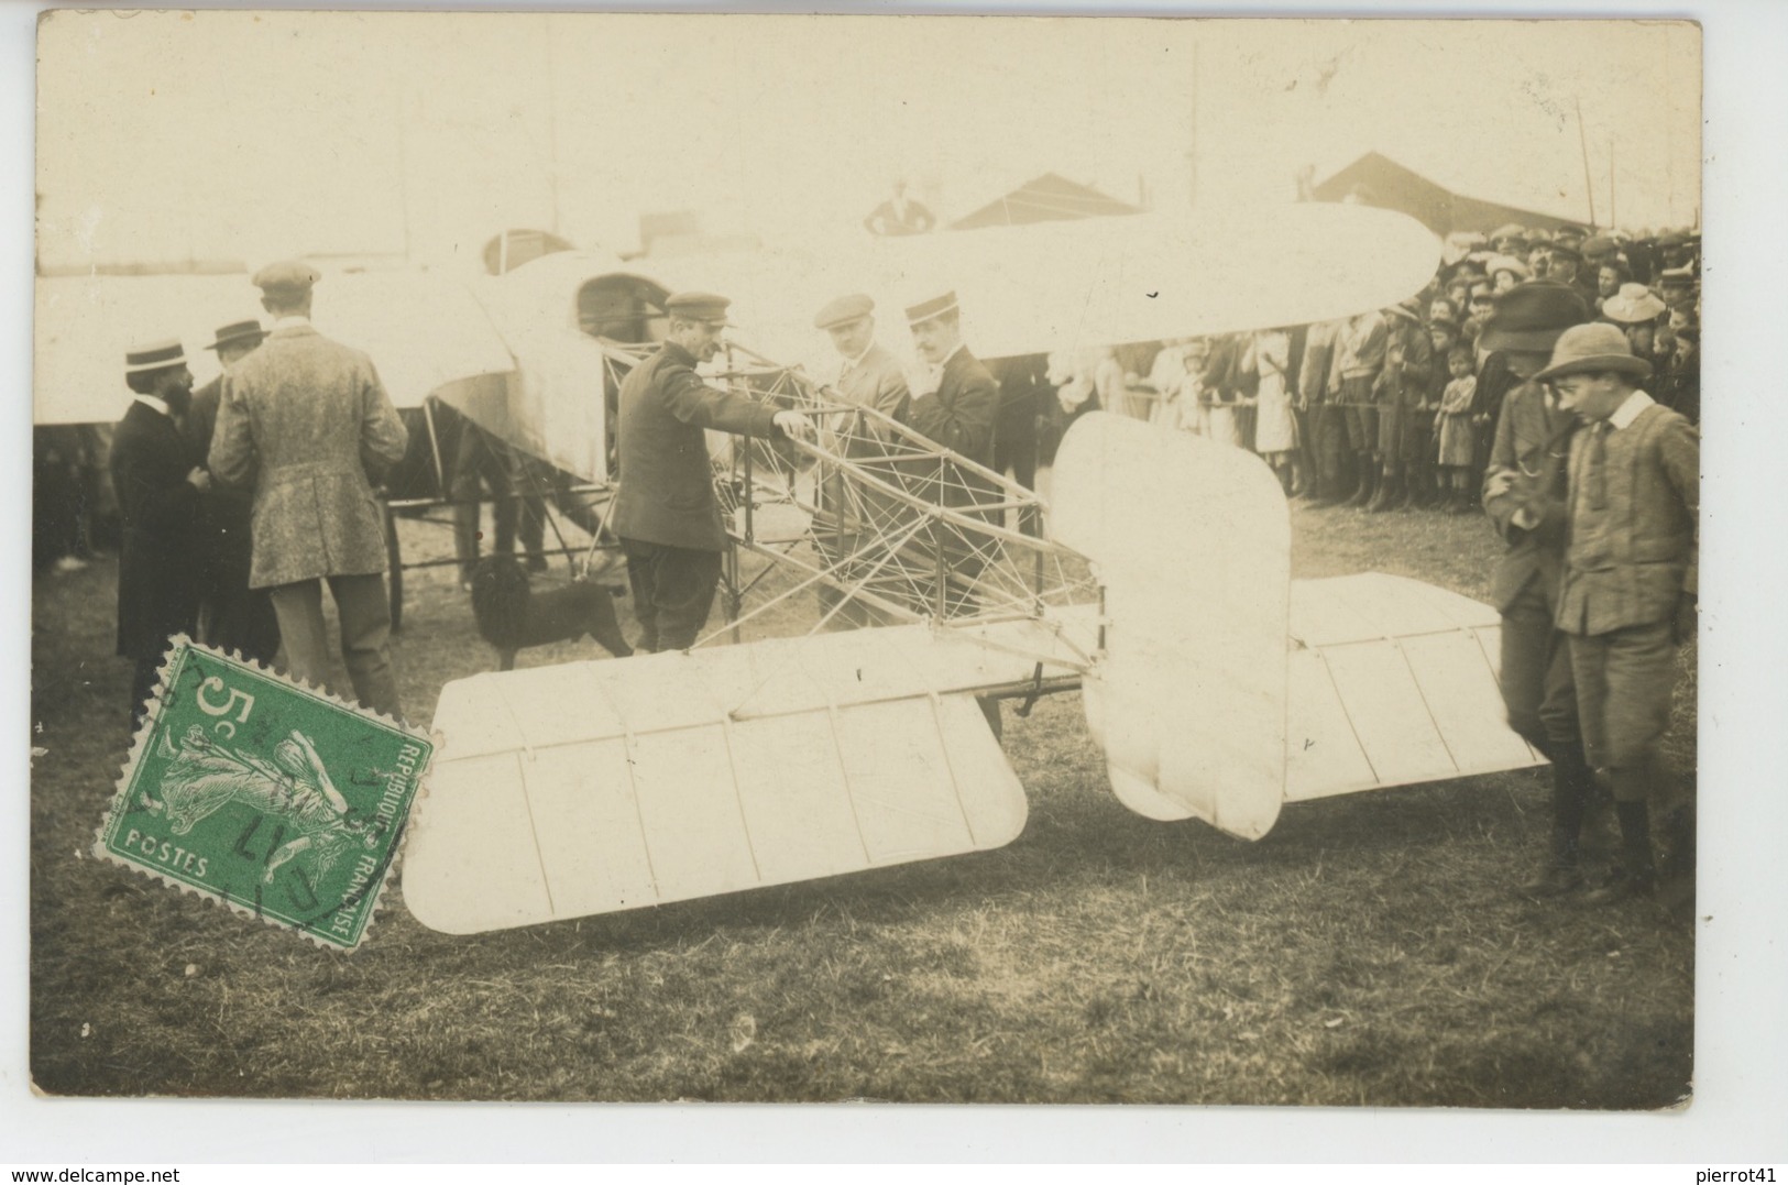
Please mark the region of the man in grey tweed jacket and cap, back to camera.
[[409, 434], [372, 359], [311, 327], [316, 279], [297, 261], [254, 275], [274, 325], [261, 349], [224, 372], [211, 472], [254, 486], [249, 584], [268, 590], [291, 677], [324, 681], [327, 581], [354, 695], [399, 719], [384, 527], [372, 486], [404, 458]]

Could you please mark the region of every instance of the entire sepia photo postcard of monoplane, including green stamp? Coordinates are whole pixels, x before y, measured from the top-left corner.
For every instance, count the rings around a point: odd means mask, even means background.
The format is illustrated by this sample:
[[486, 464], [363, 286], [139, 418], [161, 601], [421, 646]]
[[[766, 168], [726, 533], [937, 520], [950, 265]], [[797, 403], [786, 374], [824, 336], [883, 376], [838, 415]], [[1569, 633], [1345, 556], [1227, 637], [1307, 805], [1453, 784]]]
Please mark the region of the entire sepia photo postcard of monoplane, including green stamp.
[[1695, 21], [36, 68], [36, 1092], [1691, 1106]]

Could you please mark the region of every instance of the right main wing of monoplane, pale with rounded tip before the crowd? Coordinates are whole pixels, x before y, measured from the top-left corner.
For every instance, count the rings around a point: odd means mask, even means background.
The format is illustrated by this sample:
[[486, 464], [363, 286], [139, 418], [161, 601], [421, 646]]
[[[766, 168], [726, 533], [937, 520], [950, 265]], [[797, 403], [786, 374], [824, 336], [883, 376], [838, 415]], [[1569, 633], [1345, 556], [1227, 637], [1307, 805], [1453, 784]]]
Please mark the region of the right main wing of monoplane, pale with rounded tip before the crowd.
[[1023, 227], [846, 240], [678, 259], [678, 286], [735, 300], [746, 340], [772, 357], [821, 361], [814, 313], [865, 291], [881, 334], [901, 309], [953, 290], [982, 357], [1307, 325], [1396, 304], [1429, 282], [1439, 240], [1368, 206], [1202, 207]]

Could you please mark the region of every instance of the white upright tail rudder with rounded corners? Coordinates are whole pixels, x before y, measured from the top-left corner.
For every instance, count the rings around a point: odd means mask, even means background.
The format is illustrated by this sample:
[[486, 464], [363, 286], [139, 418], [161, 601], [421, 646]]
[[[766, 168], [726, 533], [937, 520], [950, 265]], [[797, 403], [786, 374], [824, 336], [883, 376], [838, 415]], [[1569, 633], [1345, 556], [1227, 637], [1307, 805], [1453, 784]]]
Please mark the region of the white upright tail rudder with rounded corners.
[[1051, 534], [1105, 590], [1082, 693], [1118, 797], [1261, 838], [1286, 794], [1291, 520], [1250, 452], [1092, 413], [1055, 458]]

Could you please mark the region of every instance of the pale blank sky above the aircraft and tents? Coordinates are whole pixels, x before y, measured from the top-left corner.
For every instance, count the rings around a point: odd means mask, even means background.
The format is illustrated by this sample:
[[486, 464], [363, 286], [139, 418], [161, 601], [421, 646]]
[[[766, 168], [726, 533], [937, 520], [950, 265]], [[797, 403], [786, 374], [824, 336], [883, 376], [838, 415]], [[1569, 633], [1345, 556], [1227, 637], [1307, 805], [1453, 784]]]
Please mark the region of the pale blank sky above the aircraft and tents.
[[[1289, 200], [1377, 148], [1463, 193], [1699, 213], [1699, 32], [1641, 21], [55, 13], [48, 266], [397, 254], [638, 216], [824, 240], [896, 179], [958, 216], [1046, 170]], [[1577, 111], [1581, 105], [1582, 129]], [[1194, 193], [1196, 163], [1196, 193]]]

